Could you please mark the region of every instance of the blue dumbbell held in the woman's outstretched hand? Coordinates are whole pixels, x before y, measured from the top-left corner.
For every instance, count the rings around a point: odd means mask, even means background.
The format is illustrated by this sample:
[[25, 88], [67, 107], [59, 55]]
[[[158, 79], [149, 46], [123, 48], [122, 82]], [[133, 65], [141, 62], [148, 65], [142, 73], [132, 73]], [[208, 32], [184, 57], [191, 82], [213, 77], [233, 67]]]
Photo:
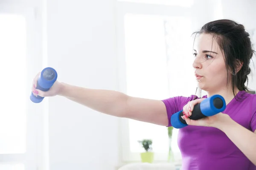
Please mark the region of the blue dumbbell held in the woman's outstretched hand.
[[[58, 75], [57, 72], [51, 68], [47, 67], [44, 68], [43, 71], [41, 71], [41, 74], [38, 77], [38, 82], [37, 82], [37, 89], [41, 91], [48, 91], [52, 85], [55, 83]], [[30, 100], [34, 103], [40, 103], [42, 102], [44, 97], [41, 96], [35, 96], [32, 92], [30, 94]]]

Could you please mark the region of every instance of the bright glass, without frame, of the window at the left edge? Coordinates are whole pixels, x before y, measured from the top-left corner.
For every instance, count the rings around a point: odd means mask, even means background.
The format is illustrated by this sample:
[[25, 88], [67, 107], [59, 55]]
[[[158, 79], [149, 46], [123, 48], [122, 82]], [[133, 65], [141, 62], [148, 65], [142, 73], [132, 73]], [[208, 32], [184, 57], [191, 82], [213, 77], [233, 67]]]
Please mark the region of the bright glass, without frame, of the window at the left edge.
[[[0, 154], [24, 153], [26, 21], [22, 16], [0, 14], [0, 23]], [[0, 169], [22, 170], [13, 166], [0, 165]]]

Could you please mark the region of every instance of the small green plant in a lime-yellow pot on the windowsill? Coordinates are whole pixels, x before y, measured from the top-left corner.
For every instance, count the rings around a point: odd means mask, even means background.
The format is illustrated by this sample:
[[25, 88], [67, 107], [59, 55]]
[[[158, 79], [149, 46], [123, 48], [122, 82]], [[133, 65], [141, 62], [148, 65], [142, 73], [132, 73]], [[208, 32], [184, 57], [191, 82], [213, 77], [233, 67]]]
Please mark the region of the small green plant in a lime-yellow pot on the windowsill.
[[145, 152], [140, 153], [140, 158], [142, 162], [152, 163], [154, 161], [154, 153], [151, 152], [152, 150], [152, 140], [151, 139], [143, 139], [138, 141], [142, 147], [144, 148]]

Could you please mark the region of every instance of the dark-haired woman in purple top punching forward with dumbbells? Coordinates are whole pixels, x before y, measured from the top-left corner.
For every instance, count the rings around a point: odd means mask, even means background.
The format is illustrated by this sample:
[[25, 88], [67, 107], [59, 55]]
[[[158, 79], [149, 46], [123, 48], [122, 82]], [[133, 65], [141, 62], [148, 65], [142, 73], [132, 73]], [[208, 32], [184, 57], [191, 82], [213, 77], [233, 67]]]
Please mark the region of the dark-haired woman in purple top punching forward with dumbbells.
[[[207, 92], [202, 98], [142, 99], [58, 81], [43, 92], [36, 89], [40, 73], [34, 79], [33, 94], [65, 96], [102, 113], [164, 126], [172, 126], [172, 114], [183, 110], [189, 124], [178, 135], [183, 170], [256, 170], [256, 95], [248, 94], [245, 85], [254, 53], [249, 34], [234, 21], [216, 20], [196, 35], [193, 67], [198, 87]], [[223, 113], [189, 119], [194, 105], [214, 94], [226, 101]]]

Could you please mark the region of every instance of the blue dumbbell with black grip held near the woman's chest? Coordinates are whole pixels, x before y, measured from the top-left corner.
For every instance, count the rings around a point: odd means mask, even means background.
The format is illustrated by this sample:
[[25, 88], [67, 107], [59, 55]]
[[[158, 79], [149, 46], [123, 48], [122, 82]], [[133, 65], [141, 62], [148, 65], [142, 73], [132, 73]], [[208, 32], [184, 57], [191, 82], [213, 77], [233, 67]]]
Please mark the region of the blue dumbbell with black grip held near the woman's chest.
[[[224, 98], [216, 94], [204, 99], [201, 103], [196, 104], [192, 111], [192, 115], [189, 116], [189, 119], [198, 120], [207, 116], [213, 116], [224, 111], [225, 108], [226, 102]], [[188, 125], [186, 121], [181, 118], [181, 116], [183, 116], [183, 111], [179, 111], [172, 115], [171, 123], [173, 127], [180, 129]]]

